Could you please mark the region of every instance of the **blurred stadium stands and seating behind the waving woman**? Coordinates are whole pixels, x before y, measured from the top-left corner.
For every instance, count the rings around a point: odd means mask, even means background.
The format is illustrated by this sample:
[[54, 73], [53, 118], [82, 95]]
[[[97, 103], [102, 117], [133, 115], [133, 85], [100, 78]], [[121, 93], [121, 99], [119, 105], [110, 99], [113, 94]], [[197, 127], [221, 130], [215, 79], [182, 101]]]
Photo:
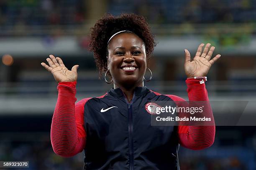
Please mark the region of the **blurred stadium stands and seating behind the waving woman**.
[[[210, 100], [256, 103], [256, 0], [0, 0], [1, 161], [82, 169], [82, 153], [61, 158], [51, 148], [57, 83], [40, 63], [54, 54], [69, 69], [79, 64], [77, 100], [110, 90], [87, 50], [90, 27], [106, 12], [147, 18], [158, 42], [145, 82], [152, 90], [187, 99], [184, 48], [194, 55], [210, 42], [222, 55], [207, 75]], [[256, 127], [218, 126], [211, 148], [180, 148], [179, 159], [181, 170], [256, 170]]]

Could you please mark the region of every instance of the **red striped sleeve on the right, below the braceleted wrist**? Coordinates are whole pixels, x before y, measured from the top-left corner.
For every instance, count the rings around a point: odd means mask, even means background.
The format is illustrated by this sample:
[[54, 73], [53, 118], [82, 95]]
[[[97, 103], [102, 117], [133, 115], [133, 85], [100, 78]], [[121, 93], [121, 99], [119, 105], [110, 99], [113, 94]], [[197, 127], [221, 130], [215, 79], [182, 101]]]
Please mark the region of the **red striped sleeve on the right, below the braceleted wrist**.
[[[200, 80], [187, 79], [187, 92], [189, 101], [209, 101], [205, 83], [200, 84]], [[178, 107], [187, 107], [188, 103], [181, 97], [175, 95], [167, 95]], [[211, 117], [212, 109], [210, 104], [204, 108], [205, 117]], [[214, 143], [215, 125], [213, 126], [179, 126], [178, 127], [179, 143], [192, 150], [201, 150], [210, 147]]]

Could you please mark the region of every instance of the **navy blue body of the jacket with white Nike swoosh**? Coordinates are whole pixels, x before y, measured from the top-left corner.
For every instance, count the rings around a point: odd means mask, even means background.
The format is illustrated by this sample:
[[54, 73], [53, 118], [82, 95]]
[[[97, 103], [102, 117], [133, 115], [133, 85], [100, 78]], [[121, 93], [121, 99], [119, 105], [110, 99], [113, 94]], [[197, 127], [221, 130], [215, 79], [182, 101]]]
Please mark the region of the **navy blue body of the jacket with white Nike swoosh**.
[[[146, 86], [131, 103], [120, 88], [84, 105], [84, 170], [179, 170], [177, 126], [151, 126], [145, 105], [172, 101]], [[111, 107], [111, 108], [110, 108]]]

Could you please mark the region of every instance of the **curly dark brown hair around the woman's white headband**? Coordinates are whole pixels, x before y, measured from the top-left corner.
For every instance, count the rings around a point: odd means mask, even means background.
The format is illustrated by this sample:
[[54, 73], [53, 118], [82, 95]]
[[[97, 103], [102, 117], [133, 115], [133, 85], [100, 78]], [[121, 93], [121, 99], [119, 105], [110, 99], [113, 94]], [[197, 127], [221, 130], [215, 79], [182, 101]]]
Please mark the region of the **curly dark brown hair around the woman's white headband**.
[[123, 13], [117, 17], [111, 14], [105, 14], [101, 19], [97, 20], [94, 27], [91, 28], [89, 40], [89, 50], [94, 53], [99, 78], [108, 70], [108, 40], [116, 32], [122, 30], [128, 30], [138, 35], [145, 44], [147, 60], [151, 57], [156, 42], [143, 16], [133, 13]]

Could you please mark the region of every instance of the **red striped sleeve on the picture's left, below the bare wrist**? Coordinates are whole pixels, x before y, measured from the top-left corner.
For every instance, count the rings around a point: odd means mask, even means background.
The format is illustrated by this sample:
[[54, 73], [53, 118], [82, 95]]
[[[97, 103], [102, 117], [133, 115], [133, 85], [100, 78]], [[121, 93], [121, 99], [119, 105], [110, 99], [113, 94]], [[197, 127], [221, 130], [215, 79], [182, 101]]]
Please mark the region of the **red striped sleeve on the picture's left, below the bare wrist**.
[[75, 104], [77, 82], [60, 82], [58, 100], [51, 122], [51, 145], [54, 153], [63, 157], [72, 157], [85, 147], [84, 130], [85, 98]]

